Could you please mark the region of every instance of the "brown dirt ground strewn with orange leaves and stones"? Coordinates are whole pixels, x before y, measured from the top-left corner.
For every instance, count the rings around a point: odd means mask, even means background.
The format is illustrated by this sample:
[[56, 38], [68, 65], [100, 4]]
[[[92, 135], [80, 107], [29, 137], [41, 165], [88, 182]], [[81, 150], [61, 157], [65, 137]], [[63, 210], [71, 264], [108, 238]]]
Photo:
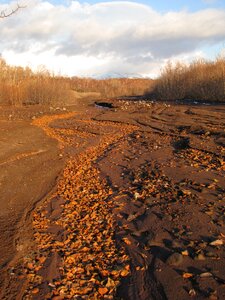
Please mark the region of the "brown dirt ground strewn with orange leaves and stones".
[[0, 298], [225, 299], [224, 106], [111, 102], [0, 109]]

